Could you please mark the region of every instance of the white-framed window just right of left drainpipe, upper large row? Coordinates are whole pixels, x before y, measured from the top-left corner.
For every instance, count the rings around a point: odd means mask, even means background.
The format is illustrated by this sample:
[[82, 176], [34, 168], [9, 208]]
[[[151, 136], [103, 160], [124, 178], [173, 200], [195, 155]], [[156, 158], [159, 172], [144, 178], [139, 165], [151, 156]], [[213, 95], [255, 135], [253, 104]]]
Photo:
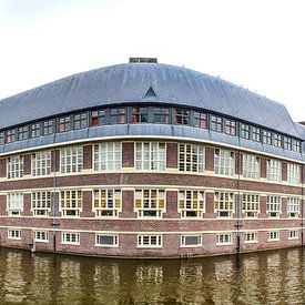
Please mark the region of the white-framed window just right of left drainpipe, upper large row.
[[79, 173], [82, 171], [82, 146], [68, 146], [60, 150], [60, 172]]

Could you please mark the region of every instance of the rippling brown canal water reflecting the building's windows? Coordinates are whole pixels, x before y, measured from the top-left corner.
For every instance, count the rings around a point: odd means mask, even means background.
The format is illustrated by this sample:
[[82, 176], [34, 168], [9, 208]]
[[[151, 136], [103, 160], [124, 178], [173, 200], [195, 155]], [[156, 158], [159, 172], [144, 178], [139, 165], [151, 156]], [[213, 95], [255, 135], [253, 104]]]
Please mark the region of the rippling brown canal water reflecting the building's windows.
[[305, 304], [305, 251], [105, 260], [0, 247], [0, 304]]

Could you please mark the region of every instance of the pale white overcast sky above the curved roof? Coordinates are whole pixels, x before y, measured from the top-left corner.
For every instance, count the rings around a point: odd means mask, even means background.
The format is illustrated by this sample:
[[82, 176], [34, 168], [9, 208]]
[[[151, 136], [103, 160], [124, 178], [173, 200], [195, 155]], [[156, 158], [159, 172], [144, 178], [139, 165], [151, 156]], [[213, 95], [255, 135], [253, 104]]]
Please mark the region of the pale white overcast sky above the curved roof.
[[156, 57], [284, 103], [302, 121], [304, 14], [304, 0], [0, 0], [0, 99]]

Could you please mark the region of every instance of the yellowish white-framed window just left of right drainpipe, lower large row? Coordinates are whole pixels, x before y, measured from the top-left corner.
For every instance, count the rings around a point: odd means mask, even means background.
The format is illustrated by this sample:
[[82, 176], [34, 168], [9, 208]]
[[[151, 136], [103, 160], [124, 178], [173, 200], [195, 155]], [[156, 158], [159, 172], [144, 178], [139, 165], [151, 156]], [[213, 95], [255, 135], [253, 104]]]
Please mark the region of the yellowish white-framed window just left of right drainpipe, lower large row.
[[217, 217], [232, 217], [234, 212], [234, 193], [215, 192], [214, 204]]

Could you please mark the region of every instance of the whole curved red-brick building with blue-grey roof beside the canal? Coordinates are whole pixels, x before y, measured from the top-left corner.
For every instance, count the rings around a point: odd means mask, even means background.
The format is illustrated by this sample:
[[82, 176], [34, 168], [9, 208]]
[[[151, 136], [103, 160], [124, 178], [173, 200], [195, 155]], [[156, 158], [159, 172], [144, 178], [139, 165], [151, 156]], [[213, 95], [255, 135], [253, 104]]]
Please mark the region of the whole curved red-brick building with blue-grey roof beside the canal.
[[185, 257], [304, 243], [305, 128], [283, 104], [131, 59], [0, 102], [0, 245]]

